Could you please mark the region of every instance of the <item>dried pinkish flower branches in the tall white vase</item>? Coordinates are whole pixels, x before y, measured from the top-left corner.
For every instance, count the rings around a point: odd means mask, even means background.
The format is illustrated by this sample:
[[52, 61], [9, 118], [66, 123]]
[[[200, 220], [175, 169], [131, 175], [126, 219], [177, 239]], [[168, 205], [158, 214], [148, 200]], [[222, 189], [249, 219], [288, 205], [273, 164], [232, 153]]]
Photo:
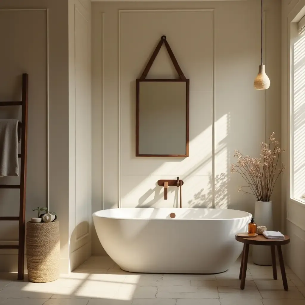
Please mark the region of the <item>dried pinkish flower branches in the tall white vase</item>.
[[[238, 191], [254, 195], [258, 201], [270, 201], [274, 185], [285, 169], [283, 163], [278, 168], [279, 156], [285, 150], [278, 147], [280, 143], [273, 136], [274, 132], [269, 136], [268, 144], [260, 143], [260, 159], [234, 151], [237, 163], [231, 164], [231, 173], [239, 173], [247, 184], [239, 186]], [[243, 190], [246, 187], [250, 192]]]

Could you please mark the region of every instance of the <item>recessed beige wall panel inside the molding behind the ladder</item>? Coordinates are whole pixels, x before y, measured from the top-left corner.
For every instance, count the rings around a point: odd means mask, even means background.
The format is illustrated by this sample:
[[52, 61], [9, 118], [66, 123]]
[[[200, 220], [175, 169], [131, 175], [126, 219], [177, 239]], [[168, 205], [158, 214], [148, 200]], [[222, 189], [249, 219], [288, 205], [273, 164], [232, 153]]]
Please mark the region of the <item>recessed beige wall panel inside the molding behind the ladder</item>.
[[[29, 22], [35, 20], [35, 23]], [[39, 26], [37, 26], [39, 25]], [[7, 31], [7, 27], [12, 29]], [[28, 106], [28, 171], [26, 217], [37, 217], [31, 209], [47, 203], [47, 11], [3, 11], [0, 9], [0, 100], [21, 100], [22, 73], [30, 75]], [[30, 49], [30, 50], [29, 50]], [[14, 50], [14, 52], [12, 52]], [[37, 61], [38, 64], [31, 65]], [[37, 90], [36, 86], [38, 87]], [[21, 107], [1, 107], [1, 118], [21, 120]], [[35, 136], [32, 136], [35, 135]], [[37, 177], [39, 176], [39, 179]], [[20, 178], [0, 178], [2, 184], [19, 184]], [[19, 215], [19, 190], [0, 190], [0, 215]], [[34, 216], [35, 215], [35, 216]], [[0, 240], [15, 244], [18, 222], [0, 222]], [[2, 251], [15, 253], [15, 251]], [[2, 257], [2, 256], [1, 256]], [[14, 256], [16, 259], [16, 256]], [[1, 259], [0, 259], [1, 260]], [[0, 262], [1, 264], [1, 262]]]

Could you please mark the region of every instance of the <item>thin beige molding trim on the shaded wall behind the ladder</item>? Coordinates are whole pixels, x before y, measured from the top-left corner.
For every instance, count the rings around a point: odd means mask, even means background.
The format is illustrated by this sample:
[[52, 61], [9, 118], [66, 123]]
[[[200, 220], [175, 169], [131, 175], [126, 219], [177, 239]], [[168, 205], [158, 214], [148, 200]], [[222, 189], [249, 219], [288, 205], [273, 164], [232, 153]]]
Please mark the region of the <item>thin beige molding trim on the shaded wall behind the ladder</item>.
[[[41, 9], [0, 9], [0, 12], [28, 12], [28, 11], [33, 11], [33, 12], [41, 12], [45, 11], [46, 12], [46, 49], [47, 49], [47, 84], [46, 84], [46, 102], [47, 102], [47, 139], [46, 139], [46, 145], [47, 145], [47, 193], [46, 193], [46, 201], [47, 201], [47, 207], [49, 209], [49, 199], [50, 199], [50, 171], [49, 171], [49, 9], [47, 8], [41, 8]], [[29, 76], [30, 77], [30, 76]], [[11, 241], [5, 241], [2, 242], [2, 244], [18, 244], [18, 241], [11, 240]], [[17, 250], [14, 250], [17, 251]], [[5, 254], [4, 252], [1, 251], [0, 254]]]

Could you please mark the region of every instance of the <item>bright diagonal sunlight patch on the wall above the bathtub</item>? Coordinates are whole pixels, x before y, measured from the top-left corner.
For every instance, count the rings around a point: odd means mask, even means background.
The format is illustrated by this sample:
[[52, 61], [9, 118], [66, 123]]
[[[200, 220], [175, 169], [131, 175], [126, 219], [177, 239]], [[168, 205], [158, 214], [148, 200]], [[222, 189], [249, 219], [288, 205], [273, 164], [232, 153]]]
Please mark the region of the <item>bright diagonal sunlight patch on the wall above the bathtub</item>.
[[[233, 155], [233, 152], [230, 152], [228, 150], [228, 141], [230, 138], [230, 113], [226, 114], [225, 116], [221, 117], [216, 123], [217, 128], [221, 131], [221, 136], [219, 137], [219, 141], [217, 143], [217, 149], [215, 149], [214, 152], [214, 158], [215, 162], [220, 164], [219, 168], [224, 169], [223, 172], [220, 172], [219, 174], [215, 175], [215, 178], [213, 179], [212, 173], [209, 171], [207, 175], [201, 175], [201, 173], [204, 171], [205, 168], [211, 167], [212, 163], [212, 152], [207, 150], [206, 156], [201, 157], [201, 153], [204, 155], [204, 149], [203, 152], [201, 152], [201, 146], [202, 143], [205, 142], [205, 137], [207, 136], [205, 132], [211, 128], [208, 127], [205, 131], [202, 132], [202, 135], [197, 135], [196, 138], [194, 138], [190, 142], [190, 146], [194, 147], [195, 152], [197, 153], [195, 155], [190, 155], [189, 160], [187, 158], [181, 160], [178, 164], [177, 163], [171, 163], [171, 160], [169, 162], [163, 161], [164, 167], [170, 167], [170, 171], [172, 170], [171, 167], [174, 167], [174, 171], [180, 171], [183, 168], [186, 168], [185, 173], [181, 175], [181, 179], [185, 182], [185, 185], [182, 187], [182, 196], [185, 197], [185, 192], [188, 193], [187, 197], [187, 203], [188, 207], [190, 208], [233, 208], [233, 206], [236, 206], [238, 208], [238, 204], [234, 204], [230, 202], [229, 198], [229, 191], [228, 191], [228, 185], [229, 181], [231, 179], [231, 173], [229, 170], [231, 158], [230, 155]], [[209, 131], [210, 132], [210, 131]], [[208, 133], [209, 133], [208, 132]], [[199, 137], [199, 138], [198, 138]], [[193, 165], [194, 160], [197, 161], [195, 165]], [[170, 163], [168, 166], [166, 163]], [[188, 167], [189, 166], [189, 167]], [[218, 166], [217, 166], [217, 171]], [[152, 173], [153, 175], [153, 173]], [[203, 187], [198, 190], [198, 187], [195, 186], [195, 191], [193, 191], [192, 187], [192, 179], [193, 177], [199, 177], [199, 185], [201, 184]], [[203, 177], [201, 179], [201, 177]], [[147, 178], [149, 179], [149, 177]], [[235, 179], [234, 179], [235, 180]], [[188, 184], [188, 181], [189, 184]], [[197, 183], [198, 185], [198, 183]], [[236, 184], [237, 185], [237, 184]], [[200, 187], [200, 186], [199, 186]], [[236, 187], [236, 186], [234, 186]], [[134, 188], [131, 192], [134, 192], [136, 189], [142, 188], [142, 184], [140, 183], [138, 186]], [[179, 189], [170, 187], [168, 188], [168, 193], [171, 194], [174, 192], [174, 202], [172, 204], [173, 207], [179, 206]], [[193, 194], [192, 194], [193, 192]], [[237, 192], [237, 187], [236, 187]], [[151, 198], [153, 196], [153, 198]], [[156, 186], [154, 188], [150, 188], [145, 194], [143, 194], [140, 199], [138, 200], [137, 207], [154, 207], [158, 206], [158, 203], [163, 200], [164, 192], [163, 188], [158, 186], [156, 183]], [[190, 199], [191, 197], [191, 199]], [[150, 200], [149, 200], [150, 199]], [[185, 204], [185, 201], [182, 202], [183, 207], [187, 207]], [[160, 206], [159, 206], [160, 207]], [[169, 207], [167, 205], [167, 207]], [[240, 207], [239, 207], [240, 209]]]

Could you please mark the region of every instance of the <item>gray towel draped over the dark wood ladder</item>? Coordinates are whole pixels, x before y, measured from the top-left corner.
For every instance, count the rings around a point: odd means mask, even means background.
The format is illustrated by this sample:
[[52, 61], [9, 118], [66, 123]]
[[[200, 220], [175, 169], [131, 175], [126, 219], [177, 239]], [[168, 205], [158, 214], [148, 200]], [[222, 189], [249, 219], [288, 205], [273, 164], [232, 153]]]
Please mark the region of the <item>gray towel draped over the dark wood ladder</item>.
[[18, 176], [18, 120], [0, 120], [0, 177]]

